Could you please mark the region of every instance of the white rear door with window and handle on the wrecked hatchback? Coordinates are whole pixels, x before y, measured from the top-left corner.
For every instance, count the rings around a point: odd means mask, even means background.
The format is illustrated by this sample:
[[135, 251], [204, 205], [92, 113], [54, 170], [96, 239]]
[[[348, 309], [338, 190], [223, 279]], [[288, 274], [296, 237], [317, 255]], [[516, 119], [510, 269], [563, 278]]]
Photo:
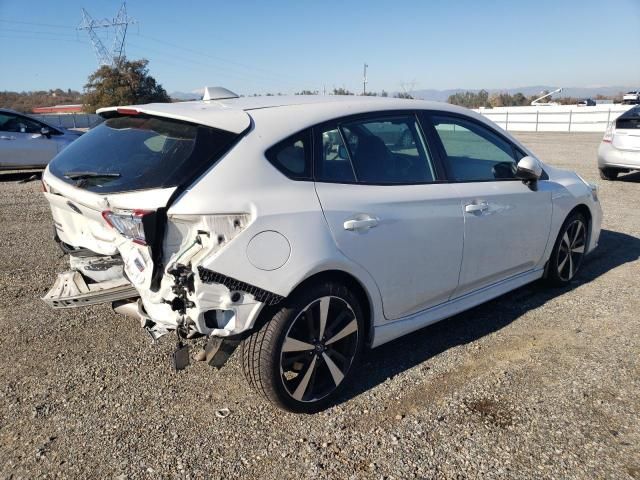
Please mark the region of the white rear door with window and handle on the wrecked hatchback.
[[413, 113], [314, 129], [316, 191], [340, 251], [364, 267], [398, 319], [449, 299], [464, 223]]

